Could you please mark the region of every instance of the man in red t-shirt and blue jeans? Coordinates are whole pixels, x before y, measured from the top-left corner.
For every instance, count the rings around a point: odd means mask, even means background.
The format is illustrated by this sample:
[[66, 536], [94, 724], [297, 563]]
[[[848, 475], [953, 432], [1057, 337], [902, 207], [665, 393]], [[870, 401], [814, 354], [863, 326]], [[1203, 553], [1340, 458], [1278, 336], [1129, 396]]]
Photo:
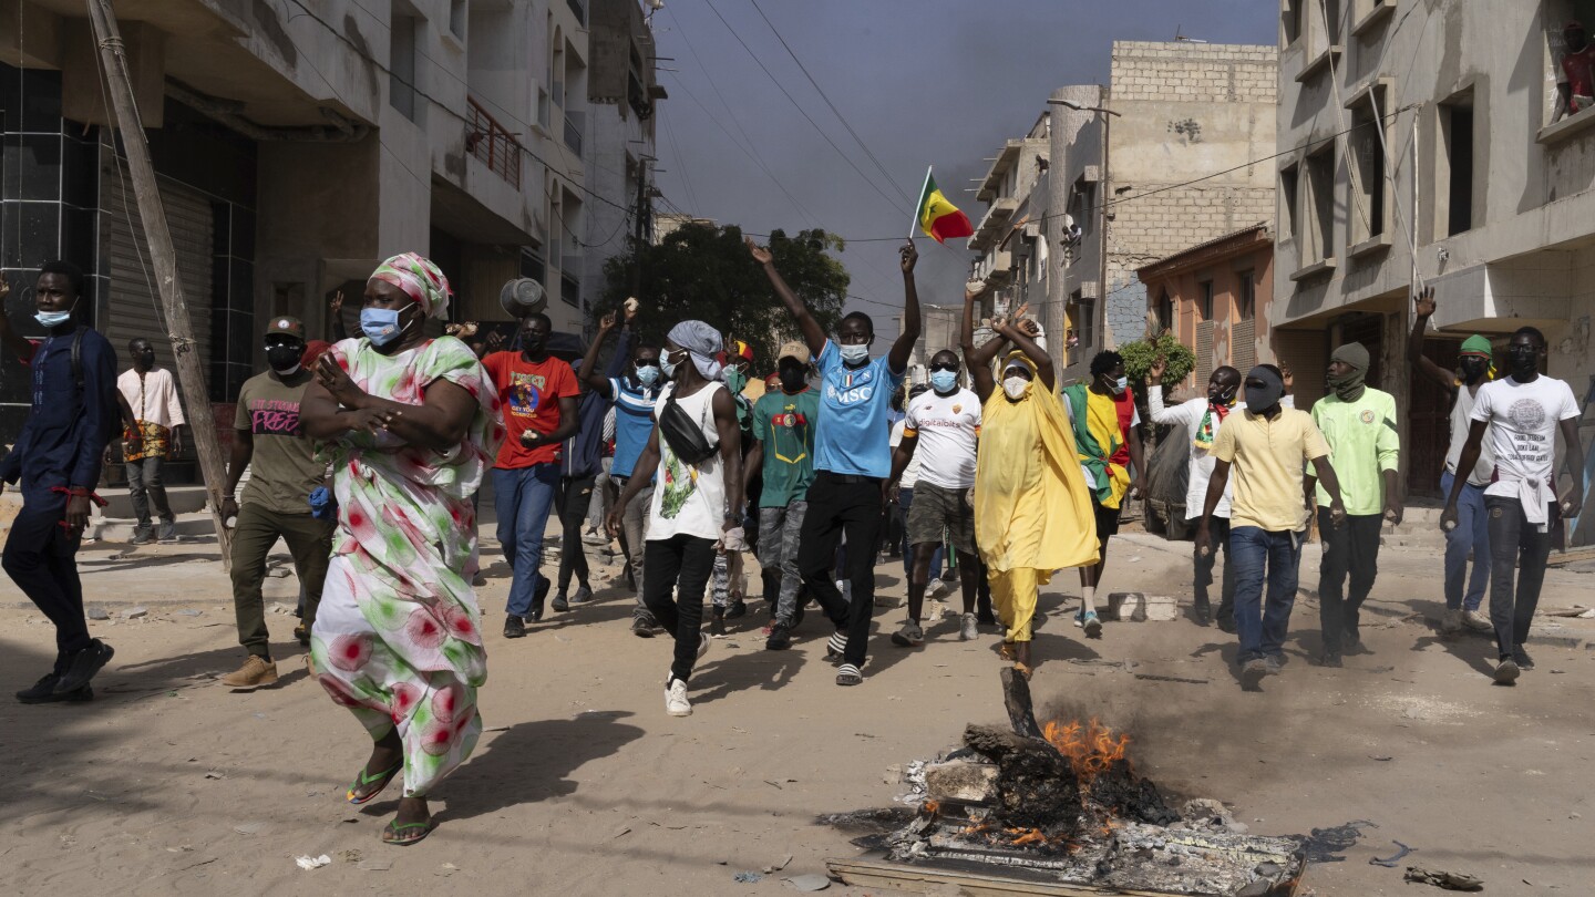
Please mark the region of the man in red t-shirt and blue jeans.
[[549, 354], [553, 324], [547, 314], [520, 322], [520, 351], [482, 359], [498, 388], [509, 431], [493, 468], [493, 508], [504, 559], [515, 578], [509, 589], [504, 637], [526, 634], [526, 619], [542, 619], [549, 578], [538, 573], [542, 531], [560, 488], [560, 445], [576, 434], [576, 396], [581, 388], [571, 366]]

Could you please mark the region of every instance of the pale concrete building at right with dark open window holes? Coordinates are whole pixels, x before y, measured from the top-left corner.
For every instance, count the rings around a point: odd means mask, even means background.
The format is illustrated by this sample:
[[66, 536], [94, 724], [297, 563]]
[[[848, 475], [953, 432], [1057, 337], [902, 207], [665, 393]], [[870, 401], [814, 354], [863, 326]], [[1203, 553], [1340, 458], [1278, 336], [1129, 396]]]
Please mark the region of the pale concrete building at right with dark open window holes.
[[1270, 324], [1317, 359], [1351, 340], [1372, 350], [1370, 381], [1402, 410], [1408, 492], [1436, 492], [1447, 445], [1443, 396], [1407, 377], [1416, 283], [1437, 290], [1428, 351], [1442, 364], [1472, 332], [1499, 345], [1533, 324], [1550, 338], [1550, 375], [1581, 396], [1595, 383], [1595, 113], [1557, 109], [1562, 26], [1592, 13], [1563, 0], [1284, 3]]

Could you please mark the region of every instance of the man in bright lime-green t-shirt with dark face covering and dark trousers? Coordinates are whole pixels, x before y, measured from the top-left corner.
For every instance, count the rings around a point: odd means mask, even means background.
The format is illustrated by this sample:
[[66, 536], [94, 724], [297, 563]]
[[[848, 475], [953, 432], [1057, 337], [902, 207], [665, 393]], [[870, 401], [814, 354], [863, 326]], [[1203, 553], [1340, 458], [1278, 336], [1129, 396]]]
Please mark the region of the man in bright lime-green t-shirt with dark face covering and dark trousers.
[[[1324, 559], [1317, 568], [1319, 624], [1324, 629], [1325, 667], [1338, 667], [1343, 651], [1361, 653], [1357, 618], [1373, 591], [1380, 562], [1380, 525], [1400, 524], [1400, 436], [1396, 431], [1396, 397], [1364, 383], [1369, 350], [1346, 343], [1330, 354], [1332, 393], [1313, 404], [1313, 423], [1329, 442], [1329, 463], [1340, 480], [1346, 522], [1333, 527], [1329, 493], [1317, 488], [1319, 536]], [[1316, 477], [1308, 477], [1314, 484]], [[1313, 488], [1311, 485], [1308, 488]], [[1346, 594], [1346, 576], [1351, 592]]]

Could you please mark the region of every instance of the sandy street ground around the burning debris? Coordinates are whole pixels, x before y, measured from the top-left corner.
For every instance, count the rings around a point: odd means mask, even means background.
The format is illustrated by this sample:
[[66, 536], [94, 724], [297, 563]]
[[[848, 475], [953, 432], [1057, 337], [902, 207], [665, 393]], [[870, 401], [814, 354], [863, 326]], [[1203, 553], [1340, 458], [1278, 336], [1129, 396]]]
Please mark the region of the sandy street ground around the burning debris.
[[[553, 614], [520, 642], [498, 637], [507, 581], [482, 589], [491, 678], [488, 733], [435, 795], [426, 843], [378, 843], [397, 788], [354, 809], [343, 790], [365, 760], [364, 731], [309, 682], [271, 616], [278, 688], [234, 694], [212, 677], [242, 658], [230, 589], [211, 546], [91, 546], [83, 555], [93, 624], [116, 648], [86, 705], [0, 702], [0, 892], [59, 894], [777, 894], [782, 876], [853, 857], [850, 835], [817, 814], [888, 806], [888, 768], [952, 747], [968, 721], [1003, 718], [994, 635], [960, 643], [952, 619], [916, 651], [885, 638], [901, 619], [877, 610], [866, 682], [837, 688], [821, 624], [794, 650], [762, 650], [762, 613], [715, 642], [692, 683], [695, 713], [664, 713], [668, 642], [640, 640], [632, 599]], [[1115, 541], [1113, 591], [1190, 599], [1190, 546], [1145, 535]], [[485, 557], [496, 557], [491, 546]], [[281, 559], [286, 562], [286, 557]], [[751, 565], [750, 565], [751, 567]], [[1305, 586], [1317, 555], [1303, 559]], [[1233, 640], [1176, 622], [1109, 624], [1083, 642], [1061, 614], [1042, 630], [1038, 704], [1128, 726], [1140, 773], [1179, 796], [1230, 803], [1257, 833], [1306, 833], [1370, 820], [1343, 862], [1314, 865], [1317, 894], [1420, 894], [1410, 862], [1479, 875], [1488, 894], [1590, 894], [1590, 757], [1595, 753], [1595, 621], [1560, 621], [1565, 645], [1534, 646], [1539, 669], [1493, 686], [1480, 637], [1440, 640], [1432, 551], [1386, 549], [1365, 640], [1346, 669], [1308, 664], [1316, 602], [1297, 603], [1290, 664], [1263, 693], [1243, 693]], [[616, 567], [600, 570], [617, 571]], [[884, 603], [901, 567], [879, 568]], [[1043, 607], [1075, 594], [1073, 576]], [[268, 602], [292, 602], [292, 576]], [[1589, 602], [1587, 573], [1554, 571], [1542, 607]], [[140, 619], [121, 619], [134, 607]], [[188, 613], [183, 613], [188, 611]], [[193, 613], [193, 611], [198, 611]], [[0, 583], [0, 683], [46, 669], [49, 627]], [[1203, 678], [1179, 683], [1136, 674]], [[298, 854], [332, 857], [313, 871]], [[791, 856], [785, 871], [735, 883]], [[391, 863], [386, 870], [368, 868]], [[1584, 881], [1584, 884], [1577, 884]], [[863, 894], [833, 884], [831, 892]]]

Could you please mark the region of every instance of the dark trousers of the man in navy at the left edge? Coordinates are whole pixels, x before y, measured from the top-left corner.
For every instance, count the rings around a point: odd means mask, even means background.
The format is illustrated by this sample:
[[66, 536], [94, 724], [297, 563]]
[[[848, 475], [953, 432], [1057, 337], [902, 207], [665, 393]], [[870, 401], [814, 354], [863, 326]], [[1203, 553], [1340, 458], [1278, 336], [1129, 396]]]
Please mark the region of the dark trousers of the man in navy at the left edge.
[[65, 674], [72, 654], [89, 646], [89, 624], [83, 618], [83, 584], [78, 581], [81, 530], [61, 525], [67, 519], [67, 496], [48, 488], [24, 488], [22, 511], [11, 522], [0, 567], [16, 587], [38, 605], [56, 626], [56, 674]]

